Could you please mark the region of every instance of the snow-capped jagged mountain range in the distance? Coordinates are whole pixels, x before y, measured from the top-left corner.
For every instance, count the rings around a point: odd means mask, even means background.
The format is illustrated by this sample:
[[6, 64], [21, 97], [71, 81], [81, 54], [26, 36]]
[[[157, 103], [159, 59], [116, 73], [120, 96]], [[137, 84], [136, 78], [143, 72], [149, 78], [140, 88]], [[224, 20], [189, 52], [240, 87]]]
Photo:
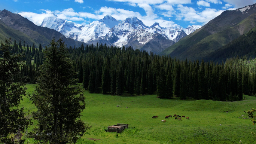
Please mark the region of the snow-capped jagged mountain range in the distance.
[[146, 46], [146, 51], [154, 53], [161, 52], [201, 27], [192, 25], [184, 29], [176, 24], [170, 25], [170, 27], [161, 27], [158, 23], [149, 27], [136, 17], [118, 21], [110, 15], [88, 25], [78, 25], [74, 22], [58, 19], [57, 16], [52, 16], [45, 18], [41, 26], [52, 28], [65, 37], [88, 44], [106, 43], [107, 45], [132, 46], [145, 50], [144, 46], [154, 40], [152, 42], [158, 43], [159, 49], [152, 49], [155, 46], [150, 48], [149, 44]]

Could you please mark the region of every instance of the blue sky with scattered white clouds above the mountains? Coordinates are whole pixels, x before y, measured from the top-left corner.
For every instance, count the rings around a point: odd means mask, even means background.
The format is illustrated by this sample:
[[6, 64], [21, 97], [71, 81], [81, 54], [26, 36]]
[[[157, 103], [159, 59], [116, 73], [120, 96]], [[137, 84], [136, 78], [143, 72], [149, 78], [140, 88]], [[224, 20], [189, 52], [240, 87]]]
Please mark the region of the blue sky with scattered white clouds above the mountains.
[[77, 24], [111, 15], [117, 20], [136, 16], [147, 26], [158, 22], [162, 27], [178, 24], [186, 28], [254, 3], [256, 0], [1, 0], [0, 10], [19, 13], [37, 25], [55, 13]]

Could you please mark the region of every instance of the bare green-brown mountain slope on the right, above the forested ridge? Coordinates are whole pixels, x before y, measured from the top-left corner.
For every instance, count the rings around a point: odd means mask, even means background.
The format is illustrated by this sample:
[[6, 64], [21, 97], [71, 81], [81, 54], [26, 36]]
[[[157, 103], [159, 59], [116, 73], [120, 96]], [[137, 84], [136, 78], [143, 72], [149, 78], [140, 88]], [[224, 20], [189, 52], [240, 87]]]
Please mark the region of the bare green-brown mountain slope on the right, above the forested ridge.
[[[201, 59], [256, 26], [256, 4], [245, 11], [226, 10], [202, 28], [165, 49], [161, 55], [179, 59]], [[245, 7], [246, 8], [246, 7]]]

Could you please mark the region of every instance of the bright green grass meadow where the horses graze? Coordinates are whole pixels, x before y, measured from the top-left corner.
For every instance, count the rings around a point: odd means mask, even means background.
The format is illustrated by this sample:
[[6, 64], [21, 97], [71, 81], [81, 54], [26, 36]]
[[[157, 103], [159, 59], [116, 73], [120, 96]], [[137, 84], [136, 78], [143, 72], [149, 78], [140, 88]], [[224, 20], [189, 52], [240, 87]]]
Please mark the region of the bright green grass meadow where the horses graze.
[[[26, 87], [31, 93], [34, 85]], [[86, 109], [81, 119], [92, 127], [78, 144], [238, 144], [240, 140], [244, 144], [256, 143], [251, 134], [256, 132], [256, 126], [244, 113], [256, 108], [253, 96], [244, 95], [246, 99], [243, 101], [221, 102], [160, 99], [156, 95], [89, 94], [88, 91], [84, 94]], [[30, 112], [36, 110], [26, 97], [21, 106]], [[165, 119], [165, 116], [174, 114], [184, 115], [189, 120]], [[156, 115], [158, 118], [152, 119]], [[121, 133], [105, 131], [107, 126], [117, 123], [128, 123], [129, 128]], [[34, 141], [27, 139], [27, 143], [33, 144]]]

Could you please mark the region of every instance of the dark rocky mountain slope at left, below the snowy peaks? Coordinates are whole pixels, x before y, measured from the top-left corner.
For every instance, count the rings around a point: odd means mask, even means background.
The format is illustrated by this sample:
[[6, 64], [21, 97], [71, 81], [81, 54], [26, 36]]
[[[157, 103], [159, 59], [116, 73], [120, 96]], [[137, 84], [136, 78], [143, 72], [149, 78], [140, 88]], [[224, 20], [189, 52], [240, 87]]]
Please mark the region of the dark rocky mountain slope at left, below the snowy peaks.
[[[60, 37], [63, 39], [67, 46], [80, 46], [82, 44], [86, 45], [86, 43], [84, 42], [78, 42], [74, 39], [67, 38], [56, 30], [37, 26], [33, 22], [29, 21], [27, 18], [24, 18], [19, 14], [9, 12], [5, 9], [0, 11], [0, 21], [4, 22], [4, 24], [7, 25], [9, 28], [13, 30], [18, 30], [26, 35], [26, 37], [29, 37], [29, 41], [35, 42], [36, 46], [39, 46], [39, 44], [42, 44], [42, 46], [47, 46], [53, 38], [59, 39]], [[20, 37], [22, 37], [22, 35]], [[20, 38], [20, 40], [22, 40], [23, 38]], [[28, 38], [26, 39], [28, 40]], [[30, 45], [33, 45], [33, 43]]]

